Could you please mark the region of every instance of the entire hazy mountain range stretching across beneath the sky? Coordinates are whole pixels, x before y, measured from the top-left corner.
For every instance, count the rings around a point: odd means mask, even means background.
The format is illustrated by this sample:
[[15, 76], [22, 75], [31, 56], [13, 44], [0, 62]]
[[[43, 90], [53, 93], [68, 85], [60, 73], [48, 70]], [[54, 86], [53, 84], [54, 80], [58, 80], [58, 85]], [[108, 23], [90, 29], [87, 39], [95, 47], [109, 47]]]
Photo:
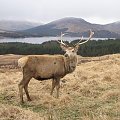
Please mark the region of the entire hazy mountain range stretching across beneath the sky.
[[[1, 23], [1, 22], [0, 22]], [[5, 28], [5, 26], [7, 26]], [[10, 26], [10, 27], [9, 27]], [[14, 31], [10, 36], [15, 37], [40, 37], [40, 36], [57, 36], [61, 32], [67, 33], [68, 36], [88, 37], [89, 30], [95, 32], [96, 38], [120, 38], [120, 22], [109, 23], [105, 25], [93, 24], [85, 21], [82, 18], [66, 17], [59, 20], [52, 21], [47, 24], [33, 24], [25, 22], [17, 22], [17, 24], [8, 22], [4, 24], [4, 28], [0, 29]], [[1, 35], [1, 34], [0, 34]], [[6, 34], [4, 34], [6, 36]], [[7, 37], [9, 34], [7, 34]]]

